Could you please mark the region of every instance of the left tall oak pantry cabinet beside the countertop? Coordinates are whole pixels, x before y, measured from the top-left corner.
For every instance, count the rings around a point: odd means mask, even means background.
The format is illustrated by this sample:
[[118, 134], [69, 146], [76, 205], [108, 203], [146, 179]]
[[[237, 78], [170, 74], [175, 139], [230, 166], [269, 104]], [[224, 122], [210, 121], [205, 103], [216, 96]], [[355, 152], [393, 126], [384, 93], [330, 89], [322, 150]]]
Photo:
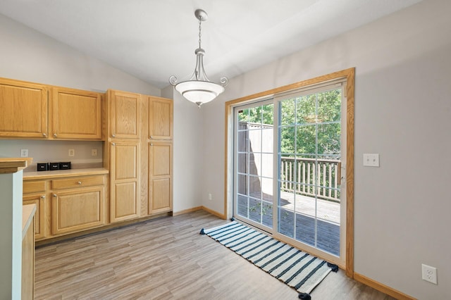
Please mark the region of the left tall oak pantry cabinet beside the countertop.
[[[140, 216], [140, 106], [141, 95], [109, 89], [108, 139], [104, 163], [110, 170], [110, 222]], [[109, 158], [109, 159], [105, 159]]]

